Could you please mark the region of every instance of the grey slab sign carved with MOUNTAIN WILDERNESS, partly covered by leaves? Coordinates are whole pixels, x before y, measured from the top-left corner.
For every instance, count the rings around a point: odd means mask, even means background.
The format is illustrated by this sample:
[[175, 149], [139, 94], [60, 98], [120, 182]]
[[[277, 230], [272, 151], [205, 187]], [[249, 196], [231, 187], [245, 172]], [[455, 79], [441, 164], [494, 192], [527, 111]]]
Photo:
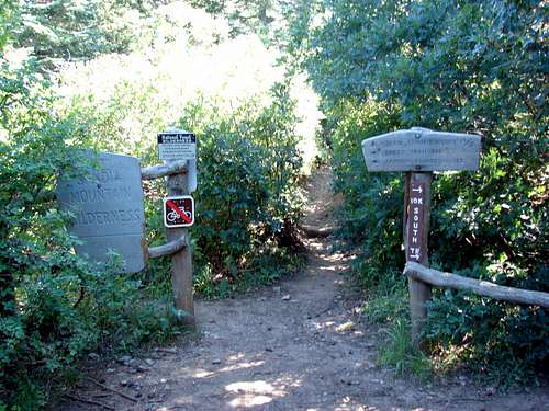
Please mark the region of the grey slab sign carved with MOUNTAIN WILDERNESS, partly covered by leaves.
[[[90, 155], [91, 156], [91, 155]], [[141, 165], [135, 157], [103, 152], [99, 169], [82, 179], [61, 179], [57, 198], [75, 214], [69, 231], [82, 244], [78, 253], [107, 262], [109, 250], [120, 253], [125, 272], [145, 267], [145, 210]]]

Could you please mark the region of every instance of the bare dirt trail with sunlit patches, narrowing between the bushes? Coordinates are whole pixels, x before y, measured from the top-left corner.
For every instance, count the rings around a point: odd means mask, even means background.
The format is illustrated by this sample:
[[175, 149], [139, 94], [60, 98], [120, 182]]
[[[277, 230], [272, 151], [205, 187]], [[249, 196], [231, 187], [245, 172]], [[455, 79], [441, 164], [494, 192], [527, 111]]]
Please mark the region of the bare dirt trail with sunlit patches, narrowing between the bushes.
[[[199, 336], [93, 373], [57, 410], [547, 410], [549, 387], [500, 395], [467, 376], [432, 384], [377, 365], [379, 328], [333, 251], [330, 174], [309, 182], [306, 269], [235, 299], [197, 301]], [[85, 402], [86, 401], [86, 402]]]

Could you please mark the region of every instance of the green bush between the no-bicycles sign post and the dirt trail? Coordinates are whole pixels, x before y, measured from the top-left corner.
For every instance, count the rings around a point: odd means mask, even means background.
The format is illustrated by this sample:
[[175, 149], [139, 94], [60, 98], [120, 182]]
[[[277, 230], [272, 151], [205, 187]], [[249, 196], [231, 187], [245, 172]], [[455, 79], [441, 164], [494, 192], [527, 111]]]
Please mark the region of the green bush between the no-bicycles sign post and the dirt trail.
[[204, 116], [203, 106], [191, 105], [181, 119], [200, 142], [195, 261], [219, 281], [235, 283], [246, 272], [264, 276], [265, 258], [298, 246], [302, 161], [293, 102], [282, 84], [272, 93], [260, 110], [250, 102], [229, 116]]

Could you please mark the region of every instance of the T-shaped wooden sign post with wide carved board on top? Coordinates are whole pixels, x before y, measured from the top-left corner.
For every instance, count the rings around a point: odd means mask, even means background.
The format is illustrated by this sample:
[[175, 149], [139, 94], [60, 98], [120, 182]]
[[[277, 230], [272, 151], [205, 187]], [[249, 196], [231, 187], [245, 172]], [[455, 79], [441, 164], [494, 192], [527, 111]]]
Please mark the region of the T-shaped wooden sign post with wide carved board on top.
[[[477, 170], [481, 138], [471, 134], [411, 128], [383, 134], [362, 141], [368, 171], [404, 171], [404, 250], [406, 262], [429, 265], [427, 241], [430, 218], [433, 171]], [[408, 277], [412, 336], [418, 335], [427, 316], [425, 302], [430, 285]]]

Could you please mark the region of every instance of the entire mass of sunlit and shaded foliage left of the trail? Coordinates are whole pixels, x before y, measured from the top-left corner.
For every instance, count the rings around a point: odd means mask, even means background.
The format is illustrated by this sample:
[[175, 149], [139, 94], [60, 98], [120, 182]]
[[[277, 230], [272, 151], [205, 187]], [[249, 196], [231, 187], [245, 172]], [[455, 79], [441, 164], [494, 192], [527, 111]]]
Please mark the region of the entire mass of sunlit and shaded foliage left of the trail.
[[[0, 2], [0, 409], [40, 409], [88, 354], [177, 333], [168, 259], [128, 275], [116, 255], [105, 267], [74, 253], [55, 184], [85, 172], [80, 148], [150, 164], [156, 133], [197, 133], [197, 290], [295, 266], [295, 82], [256, 37], [229, 41], [204, 12], [160, 3]], [[165, 242], [164, 184], [145, 191], [149, 243]]]

